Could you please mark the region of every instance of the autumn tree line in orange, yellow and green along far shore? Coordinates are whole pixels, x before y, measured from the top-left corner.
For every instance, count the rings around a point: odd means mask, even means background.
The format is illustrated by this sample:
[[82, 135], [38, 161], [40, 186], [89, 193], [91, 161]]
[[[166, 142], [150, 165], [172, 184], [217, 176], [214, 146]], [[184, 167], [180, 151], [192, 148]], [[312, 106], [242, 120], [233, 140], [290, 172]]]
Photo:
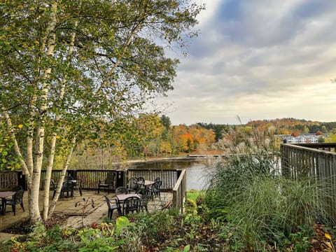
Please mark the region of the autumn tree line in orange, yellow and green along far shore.
[[[2, 127], [2, 130], [0, 129], [0, 170], [20, 169], [18, 158], [15, 157], [13, 151], [13, 142], [8, 137], [4, 125], [0, 126]], [[239, 136], [253, 135], [254, 130], [269, 132], [269, 129], [272, 129], [274, 134], [292, 134], [293, 136], [302, 133], [328, 133], [329, 137], [323, 138], [323, 141], [330, 142], [336, 139], [335, 122], [319, 123], [294, 118], [255, 120], [246, 125], [215, 123], [172, 125], [168, 116], [144, 113], [134, 116], [130, 123], [120, 125], [120, 128], [122, 130], [116, 137], [116, 133], [111, 132], [110, 127], [96, 125], [94, 141], [81, 141], [78, 144], [72, 166], [78, 167], [78, 162], [83, 162], [88, 157], [94, 157], [95, 161], [85, 161], [87, 162], [86, 167], [90, 167], [90, 163], [97, 162], [97, 160], [118, 162], [141, 157], [171, 157], [187, 153], [216, 151], [218, 153], [218, 151], [223, 151], [223, 142], [232, 138], [232, 132], [236, 132], [235, 141], [237, 142], [244, 140]], [[22, 141], [23, 137], [22, 135]], [[55, 158], [54, 168], [62, 167], [63, 162], [62, 153], [59, 153]]]

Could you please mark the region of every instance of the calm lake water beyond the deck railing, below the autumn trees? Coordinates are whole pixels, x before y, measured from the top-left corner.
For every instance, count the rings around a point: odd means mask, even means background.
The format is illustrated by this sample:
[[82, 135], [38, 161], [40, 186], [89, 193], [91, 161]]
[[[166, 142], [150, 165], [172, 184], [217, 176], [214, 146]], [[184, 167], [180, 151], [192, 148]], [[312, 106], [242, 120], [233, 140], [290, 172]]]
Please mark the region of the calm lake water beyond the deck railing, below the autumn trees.
[[202, 190], [206, 187], [206, 165], [197, 160], [162, 160], [158, 162], [146, 162], [135, 164], [134, 167], [143, 169], [186, 169], [187, 190]]

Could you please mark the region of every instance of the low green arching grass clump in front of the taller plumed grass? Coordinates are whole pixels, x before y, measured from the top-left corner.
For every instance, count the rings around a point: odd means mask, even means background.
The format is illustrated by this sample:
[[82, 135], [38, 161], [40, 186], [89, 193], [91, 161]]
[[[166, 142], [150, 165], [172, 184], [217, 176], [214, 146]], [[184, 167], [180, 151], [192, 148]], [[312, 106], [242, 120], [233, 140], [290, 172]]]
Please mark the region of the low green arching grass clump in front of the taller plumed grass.
[[262, 241], [285, 246], [300, 228], [330, 221], [324, 188], [309, 179], [256, 176], [229, 208], [230, 222], [248, 247]]

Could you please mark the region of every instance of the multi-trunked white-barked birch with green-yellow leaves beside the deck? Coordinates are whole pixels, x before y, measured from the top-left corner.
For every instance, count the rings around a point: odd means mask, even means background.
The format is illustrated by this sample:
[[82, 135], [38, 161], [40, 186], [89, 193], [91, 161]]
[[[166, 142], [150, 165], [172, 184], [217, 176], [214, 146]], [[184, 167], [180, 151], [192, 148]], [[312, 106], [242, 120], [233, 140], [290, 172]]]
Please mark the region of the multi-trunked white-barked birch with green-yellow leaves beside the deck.
[[0, 2], [1, 123], [25, 173], [32, 223], [55, 208], [55, 155], [65, 157], [62, 183], [78, 141], [101, 125], [118, 140], [148, 99], [172, 90], [179, 61], [165, 52], [197, 34], [202, 8], [190, 0]]

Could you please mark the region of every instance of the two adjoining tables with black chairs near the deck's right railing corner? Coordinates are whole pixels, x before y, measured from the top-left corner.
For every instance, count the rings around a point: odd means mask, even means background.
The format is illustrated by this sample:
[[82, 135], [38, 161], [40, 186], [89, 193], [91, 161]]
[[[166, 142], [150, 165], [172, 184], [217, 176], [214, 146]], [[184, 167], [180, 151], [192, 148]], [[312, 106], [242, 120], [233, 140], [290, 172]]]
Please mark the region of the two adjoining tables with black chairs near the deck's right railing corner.
[[112, 218], [115, 209], [119, 216], [148, 211], [148, 201], [153, 200], [153, 197], [160, 198], [161, 186], [160, 178], [155, 181], [148, 181], [143, 177], [129, 179], [127, 187], [116, 188], [116, 197], [104, 196], [109, 209], [108, 217]]

